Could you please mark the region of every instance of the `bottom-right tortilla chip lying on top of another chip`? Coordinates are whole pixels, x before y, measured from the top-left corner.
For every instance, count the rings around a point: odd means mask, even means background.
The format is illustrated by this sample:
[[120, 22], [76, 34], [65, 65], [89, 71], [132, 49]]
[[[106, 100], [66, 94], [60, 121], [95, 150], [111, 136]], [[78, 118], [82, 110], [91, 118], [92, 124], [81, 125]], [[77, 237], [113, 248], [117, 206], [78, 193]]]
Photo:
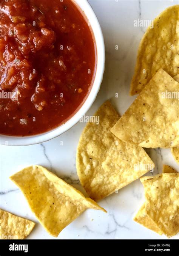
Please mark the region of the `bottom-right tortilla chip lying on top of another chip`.
[[145, 211], [166, 236], [179, 232], [179, 173], [142, 177]]

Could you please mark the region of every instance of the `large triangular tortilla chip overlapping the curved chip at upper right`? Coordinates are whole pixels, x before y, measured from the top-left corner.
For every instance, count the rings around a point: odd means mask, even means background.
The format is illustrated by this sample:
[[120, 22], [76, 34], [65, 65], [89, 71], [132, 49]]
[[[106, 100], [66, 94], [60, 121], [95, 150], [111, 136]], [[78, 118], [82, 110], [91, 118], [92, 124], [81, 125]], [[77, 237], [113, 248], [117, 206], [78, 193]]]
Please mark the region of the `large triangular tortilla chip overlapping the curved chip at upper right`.
[[178, 93], [179, 83], [160, 69], [111, 132], [122, 141], [144, 148], [177, 146], [179, 101], [165, 97], [166, 91]]

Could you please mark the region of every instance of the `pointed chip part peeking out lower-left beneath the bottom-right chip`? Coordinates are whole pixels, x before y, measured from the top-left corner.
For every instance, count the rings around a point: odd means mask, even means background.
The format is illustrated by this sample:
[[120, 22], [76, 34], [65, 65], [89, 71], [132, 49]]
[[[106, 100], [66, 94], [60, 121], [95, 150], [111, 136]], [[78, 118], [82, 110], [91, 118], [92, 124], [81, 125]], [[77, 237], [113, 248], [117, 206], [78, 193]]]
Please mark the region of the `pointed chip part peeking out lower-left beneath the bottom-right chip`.
[[152, 231], [158, 233], [160, 236], [163, 234], [163, 232], [157, 227], [156, 223], [146, 213], [145, 203], [137, 212], [133, 220], [139, 223], [140, 225], [144, 226], [145, 228], [151, 229]]

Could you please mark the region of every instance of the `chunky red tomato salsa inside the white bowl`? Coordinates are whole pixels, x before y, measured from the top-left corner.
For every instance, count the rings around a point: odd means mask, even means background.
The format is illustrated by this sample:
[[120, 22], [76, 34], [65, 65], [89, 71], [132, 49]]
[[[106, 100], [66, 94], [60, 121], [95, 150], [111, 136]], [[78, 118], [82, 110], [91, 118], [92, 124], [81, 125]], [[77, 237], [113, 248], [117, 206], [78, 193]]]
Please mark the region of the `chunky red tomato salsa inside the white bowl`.
[[65, 123], [95, 69], [93, 35], [72, 0], [0, 0], [0, 133], [34, 135]]

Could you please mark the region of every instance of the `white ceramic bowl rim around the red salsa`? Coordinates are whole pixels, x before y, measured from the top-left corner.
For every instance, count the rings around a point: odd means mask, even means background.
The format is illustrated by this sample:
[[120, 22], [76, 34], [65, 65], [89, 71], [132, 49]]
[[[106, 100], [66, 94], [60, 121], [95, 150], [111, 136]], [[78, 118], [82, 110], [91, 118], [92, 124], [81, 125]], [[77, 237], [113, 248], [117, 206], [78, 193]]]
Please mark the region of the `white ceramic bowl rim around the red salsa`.
[[97, 67], [96, 67], [96, 75], [94, 78], [94, 83], [91, 88], [91, 91], [86, 98], [83, 105], [76, 112], [74, 116], [72, 116], [65, 124], [57, 127], [56, 129], [50, 130], [46, 133], [41, 133], [38, 135], [25, 136], [25, 137], [17, 137], [17, 136], [7, 136], [0, 135], [0, 144], [10, 145], [10, 146], [25, 146], [31, 144], [38, 144], [44, 141], [51, 140], [66, 132], [71, 127], [73, 127], [79, 119], [89, 110], [94, 100], [96, 99], [97, 93], [100, 89], [100, 84], [102, 82], [104, 66], [105, 66], [105, 45], [103, 40], [102, 31], [97, 20], [97, 17], [89, 5], [87, 0], [73, 0], [79, 8], [83, 11], [87, 19], [89, 20], [89, 24], [91, 24], [91, 29], [93, 30], [94, 38], [96, 41], [97, 48]]

